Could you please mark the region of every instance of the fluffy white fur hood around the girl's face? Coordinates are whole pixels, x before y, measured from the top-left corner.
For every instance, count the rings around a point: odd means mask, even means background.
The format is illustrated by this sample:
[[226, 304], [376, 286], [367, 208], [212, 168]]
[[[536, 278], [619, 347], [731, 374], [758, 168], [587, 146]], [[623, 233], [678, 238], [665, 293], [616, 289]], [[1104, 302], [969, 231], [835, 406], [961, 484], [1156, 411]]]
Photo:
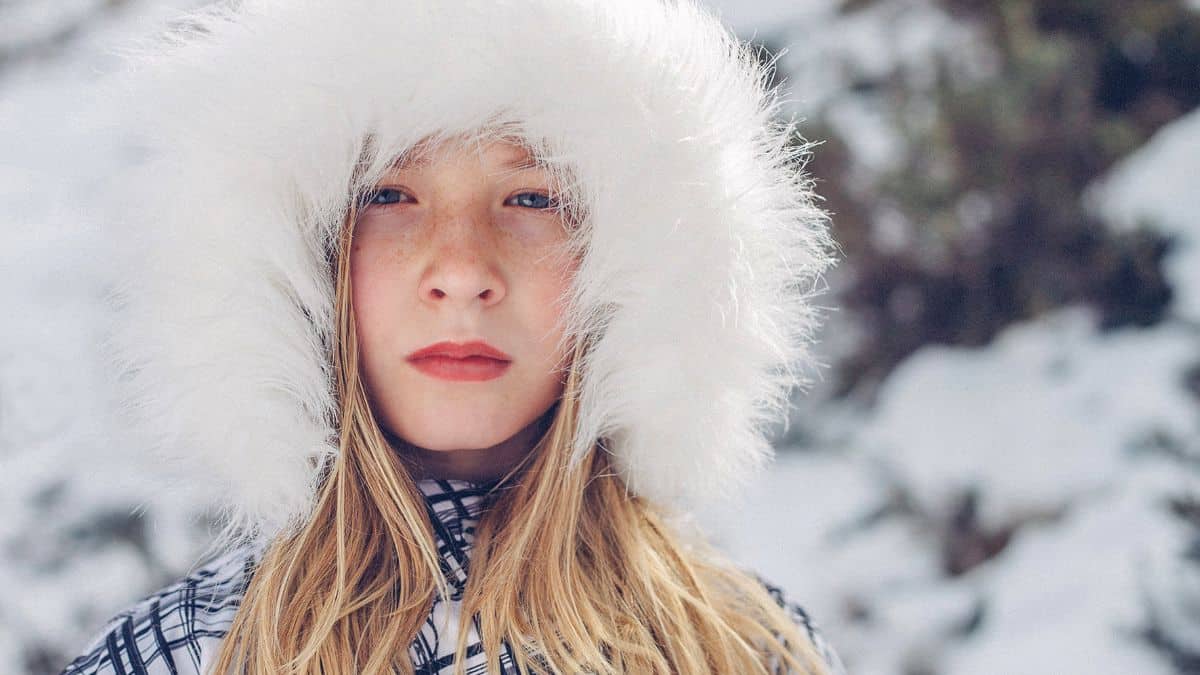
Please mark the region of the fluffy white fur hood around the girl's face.
[[[400, 150], [497, 115], [589, 214], [576, 453], [686, 507], [772, 458], [836, 245], [749, 47], [691, 0], [246, 0], [131, 52], [108, 347], [127, 442], [269, 534], [337, 452], [329, 251]], [[360, 166], [367, 137], [376, 151]], [[636, 348], [635, 348], [636, 347]]]

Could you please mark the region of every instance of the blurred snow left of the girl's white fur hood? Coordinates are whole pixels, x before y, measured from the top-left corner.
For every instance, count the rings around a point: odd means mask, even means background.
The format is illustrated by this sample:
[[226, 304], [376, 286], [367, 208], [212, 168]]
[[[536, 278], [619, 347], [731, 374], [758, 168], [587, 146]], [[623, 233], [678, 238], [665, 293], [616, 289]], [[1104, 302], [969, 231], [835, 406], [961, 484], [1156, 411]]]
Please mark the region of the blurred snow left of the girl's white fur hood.
[[[0, 12], [5, 44], [53, 34], [47, 25], [98, 4], [41, 5]], [[110, 259], [106, 177], [126, 149], [120, 110], [95, 96], [95, 84], [115, 65], [109, 46], [169, 8], [97, 16], [56, 58], [13, 59], [0, 71], [0, 311], [12, 317], [0, 331], [4, 673], [25, 671], [25, 650], [60, 658], [82, 649], [103, 621], [186, 569], [203, 544], [190, 518], [203, 504], [155, 495], [154, 466], [107, 442], [96, 350], [109, 318], [100, 301]], [[155, 528], [145, 543], [137, 531], [104, 539], [112, 531], [97, 530], [106, 516], [116, 527], [137, 522], [128, 520], [137, 508]]]

